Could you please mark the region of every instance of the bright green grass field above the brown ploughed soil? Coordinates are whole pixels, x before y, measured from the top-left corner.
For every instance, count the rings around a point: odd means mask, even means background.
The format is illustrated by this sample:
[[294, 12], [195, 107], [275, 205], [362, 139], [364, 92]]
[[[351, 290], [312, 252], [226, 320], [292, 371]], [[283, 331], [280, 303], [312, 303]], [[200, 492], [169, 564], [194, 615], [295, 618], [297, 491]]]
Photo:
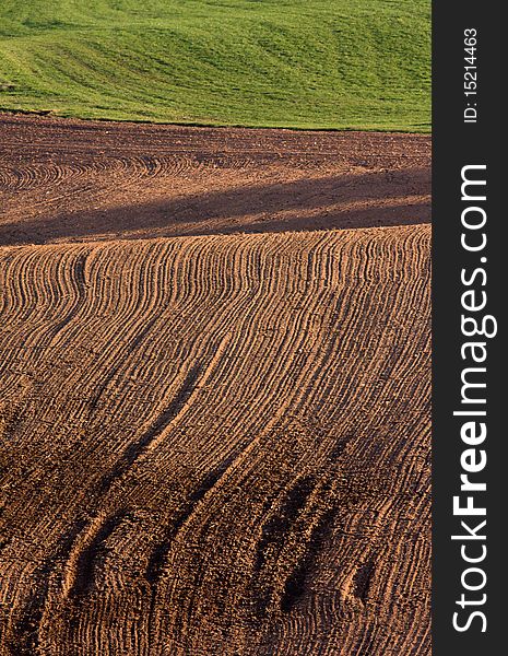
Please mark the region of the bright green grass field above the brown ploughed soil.
[[1, 0], [0, 108], [430, 129], [429, 0]]

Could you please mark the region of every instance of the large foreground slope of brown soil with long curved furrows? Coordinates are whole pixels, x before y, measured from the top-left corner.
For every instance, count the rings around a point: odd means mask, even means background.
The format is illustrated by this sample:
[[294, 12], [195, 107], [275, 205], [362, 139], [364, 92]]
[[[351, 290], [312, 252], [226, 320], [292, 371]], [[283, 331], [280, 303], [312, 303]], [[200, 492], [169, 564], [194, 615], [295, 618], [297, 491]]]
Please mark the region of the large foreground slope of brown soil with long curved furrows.
[[3, 248], [8, 656], [428, 654], [429, 236]]

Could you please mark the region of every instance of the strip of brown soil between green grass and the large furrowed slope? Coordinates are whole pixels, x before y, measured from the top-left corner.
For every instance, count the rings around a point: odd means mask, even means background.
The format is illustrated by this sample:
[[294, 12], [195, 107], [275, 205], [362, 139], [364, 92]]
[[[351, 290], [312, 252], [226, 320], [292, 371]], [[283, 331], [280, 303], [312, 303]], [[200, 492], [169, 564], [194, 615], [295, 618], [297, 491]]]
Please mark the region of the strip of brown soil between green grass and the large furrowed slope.
[[0, 115], [0, 243], [429, 220], [430, 139]]

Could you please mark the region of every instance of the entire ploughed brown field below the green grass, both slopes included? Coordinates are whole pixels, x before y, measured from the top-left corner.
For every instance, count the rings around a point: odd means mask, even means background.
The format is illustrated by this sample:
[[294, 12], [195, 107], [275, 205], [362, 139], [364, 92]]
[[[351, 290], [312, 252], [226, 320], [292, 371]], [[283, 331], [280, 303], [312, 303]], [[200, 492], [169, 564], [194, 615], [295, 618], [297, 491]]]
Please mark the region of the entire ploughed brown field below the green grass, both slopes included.
[[0, 189], [0, 654], [428, 655], [428, 137], [3, 116]]

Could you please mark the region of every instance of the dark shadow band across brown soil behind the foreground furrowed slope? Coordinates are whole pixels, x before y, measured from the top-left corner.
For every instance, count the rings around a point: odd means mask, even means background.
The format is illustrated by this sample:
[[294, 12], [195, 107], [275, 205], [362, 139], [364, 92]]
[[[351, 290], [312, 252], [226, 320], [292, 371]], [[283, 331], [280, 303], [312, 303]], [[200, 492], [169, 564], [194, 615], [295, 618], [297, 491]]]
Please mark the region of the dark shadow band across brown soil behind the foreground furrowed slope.
[[[93, 192], [72, 202], [94, 202]], [[58, 207], [0, 225], [0, 244], [340, 230], [430, 220], [428, 168], [367, 172], [160, 198], [104, 209]], [[23, 199], [20, 197], [20, 202]], [[96, 201], [95, 201], [96, 202]]]

